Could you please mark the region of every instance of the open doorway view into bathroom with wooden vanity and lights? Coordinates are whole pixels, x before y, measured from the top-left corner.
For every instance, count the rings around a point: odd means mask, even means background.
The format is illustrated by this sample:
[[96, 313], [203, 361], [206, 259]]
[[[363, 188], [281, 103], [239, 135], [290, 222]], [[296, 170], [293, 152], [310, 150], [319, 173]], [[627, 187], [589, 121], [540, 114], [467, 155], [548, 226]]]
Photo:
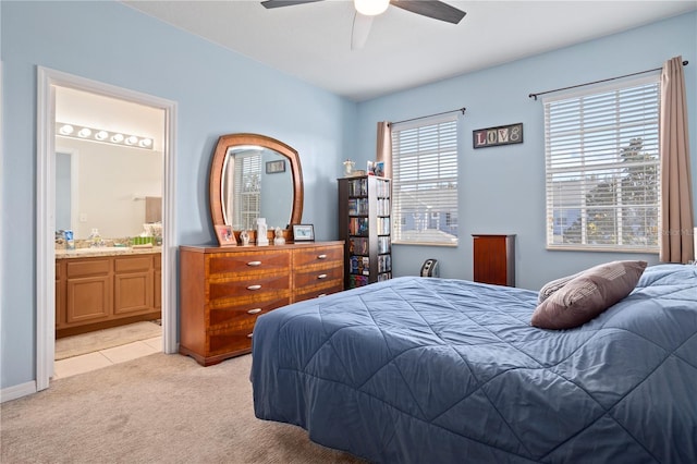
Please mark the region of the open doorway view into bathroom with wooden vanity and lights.
[[[164, 111], [61, 86], [54, 94], [59, 278], [53, 377], [63, 378], [162, 351], [161, 273], [155, 264], [160, 262]], [[75, 252], [66, 249], [65, 231]], [[88, 243], [94, 231], [98, 247]], [[148, 240], [152, 247], [133, 255], [130, 245], [136, 240]], [[134, 262], [145, 268], [114, 273], [109, 282], [98, 280], [101, 269], [93, 277], [71, 276], [98, 262], [109, 262], [113, 272]], [[117, 282], [124, 281], [137, 284], [119, 292], [123, 285]], [[113, 293], [108, 302], [107, 292]], [[105, 303], [112, 306], [106, 316]]]

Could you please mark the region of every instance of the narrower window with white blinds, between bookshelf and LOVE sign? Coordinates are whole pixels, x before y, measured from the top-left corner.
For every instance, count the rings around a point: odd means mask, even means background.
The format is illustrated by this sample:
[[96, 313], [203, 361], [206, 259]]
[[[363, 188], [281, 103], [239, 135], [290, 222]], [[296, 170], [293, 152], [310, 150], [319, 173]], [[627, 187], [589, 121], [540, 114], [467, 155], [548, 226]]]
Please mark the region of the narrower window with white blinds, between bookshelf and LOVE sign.
[[392, 124], [392, 242], [457, 245], [457, 114]]

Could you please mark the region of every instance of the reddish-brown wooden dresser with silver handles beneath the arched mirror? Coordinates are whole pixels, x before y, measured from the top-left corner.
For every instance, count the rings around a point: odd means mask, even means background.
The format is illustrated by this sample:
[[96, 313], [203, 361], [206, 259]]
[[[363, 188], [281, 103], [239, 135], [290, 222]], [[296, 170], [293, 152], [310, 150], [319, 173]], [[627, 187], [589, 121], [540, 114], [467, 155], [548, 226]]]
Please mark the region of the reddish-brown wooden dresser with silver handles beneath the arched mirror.
[[257, 317], [343, 290], [344, 242], [180, 247], [180, 353], [209, 366], [252, 351]]

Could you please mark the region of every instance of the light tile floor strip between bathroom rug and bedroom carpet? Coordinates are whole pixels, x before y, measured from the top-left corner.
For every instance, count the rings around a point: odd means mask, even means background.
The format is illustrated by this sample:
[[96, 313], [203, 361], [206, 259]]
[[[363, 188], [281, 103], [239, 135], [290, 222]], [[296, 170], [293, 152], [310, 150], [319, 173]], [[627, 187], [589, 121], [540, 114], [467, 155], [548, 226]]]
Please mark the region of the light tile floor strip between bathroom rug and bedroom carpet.
[[69, 357], [66, 359], [57, 361], [53, 364], [53, 380], [101, 369], [102, 367], [159, 353], [161, 351], [162, 337], [156, 337], [154, 339], [140, 340], [125, 345], [84, 354], [82, 356]]

